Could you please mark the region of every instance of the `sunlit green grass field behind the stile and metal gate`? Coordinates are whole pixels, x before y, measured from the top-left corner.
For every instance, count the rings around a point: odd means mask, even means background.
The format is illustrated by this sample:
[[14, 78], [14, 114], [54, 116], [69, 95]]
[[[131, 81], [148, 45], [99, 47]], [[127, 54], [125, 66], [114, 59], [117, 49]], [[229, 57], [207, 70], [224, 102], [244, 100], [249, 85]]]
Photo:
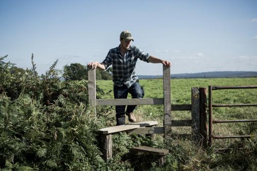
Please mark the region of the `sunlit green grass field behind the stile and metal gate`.
[[[110, 92], [103, 98], [113, 98], [113, 83], [111, 80], [97, 80], [97, 86], [105, 92]], [[140, 80], [144, 87], [144, 98], [163, 98], [162, 79]], [[197, 79], [171, 79], [171, 103], [190, 104], [191, 87], [208, 86], [250, 86], [257, 85], [257, 78], [197, 78]], [[215, 90], [212, 94], [213, 104], [257, 104], [257, 89], [240, 90]], [[131, 98], [129, 96], [128, 98]], [[113, 106], [114, 109], [114, 106]], [[159, 126], [163, 126], [163, 105], [141, 105], [135, 111], [138, 121], [157, 120]], [[112, 110], [113, 121], [115, 112]], [[191, 119], [189, 111], [172, 111], [171, 117], [174, 120]], [[257, 119], [257, 107], [233, 107], [233, 108], [213, 108], [213, 119], [233, 120], [233, 119]], [[256, 122], [255, 122], [256, 123]], [[249, 123], [219, 123], [213, 124], [214, 135], [237, 135], [244, 130]], [[174, 133], [190, 133], [190, 127], [174, 127]], [[216, 147], [229, 146], [234, 139], [214, 140]]]

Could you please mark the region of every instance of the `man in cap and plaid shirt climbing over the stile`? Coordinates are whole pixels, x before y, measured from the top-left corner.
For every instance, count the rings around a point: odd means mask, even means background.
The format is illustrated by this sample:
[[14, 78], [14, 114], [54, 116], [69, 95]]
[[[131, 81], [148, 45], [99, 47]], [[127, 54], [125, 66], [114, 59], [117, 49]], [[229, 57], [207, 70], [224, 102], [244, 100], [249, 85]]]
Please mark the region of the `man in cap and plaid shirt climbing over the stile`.
[[[135, 65], [137, 59], [151, 62], [162, 63], [165, 66], [171, 66], [171, 62], [156, 58], [148, 53], [143, 52], [136, 46], [131, 46], [131, 41], [134, 41], [129, 31], [123, 31], [120, 35], [120, 45], [113, 48], [107, 54], [102, 63], [97, 61], [88, 63], [89, 68], [98, 68], [106, 70], [112, 65], [112, 80], [113, 92], [115, 99], [127, 98], [128, 93], [132, 98], [143, 98], [144, 90], [139, 84], [139, 78], [135, 74]], [[133, 111], [136, 105], [128, 105], [125, 112], [125, 105], [115, 106], [116, 125], [125, 124], [126, 116], [130, 122], [136, 122]]]

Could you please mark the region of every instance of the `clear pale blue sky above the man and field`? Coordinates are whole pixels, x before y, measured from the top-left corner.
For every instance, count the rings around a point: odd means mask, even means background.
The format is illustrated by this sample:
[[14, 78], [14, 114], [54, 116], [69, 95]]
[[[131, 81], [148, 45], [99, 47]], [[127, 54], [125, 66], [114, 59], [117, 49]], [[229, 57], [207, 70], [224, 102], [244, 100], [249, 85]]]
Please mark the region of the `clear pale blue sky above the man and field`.
[[[171, 73], [257, 71], [257, 1], [4, 1], [0, 56], [42, 74], [58, 59], [102, 62], [129, 30], [132, 45], [170, 60]], [[139, 75], [162, 65], [137, 62]]]

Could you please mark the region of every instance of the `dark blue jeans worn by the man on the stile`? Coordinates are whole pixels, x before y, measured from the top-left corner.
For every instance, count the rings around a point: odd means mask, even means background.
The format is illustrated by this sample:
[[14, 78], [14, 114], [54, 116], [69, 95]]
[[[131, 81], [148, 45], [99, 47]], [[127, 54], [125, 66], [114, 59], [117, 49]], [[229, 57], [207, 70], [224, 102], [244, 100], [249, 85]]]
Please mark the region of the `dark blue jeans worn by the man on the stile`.
[[[132, 84], [130, 88], [127, 88], [125, 84], [122, 87], [114, 86], [113, 87], [114, 99], [126, 99], [128, 97], [128, 93], [131, 94], [132, 98], [143, 98], [144, 97], [144, 89], [140, 86], [139, 82], [135, 82]], [[126, 105], [116, 105], [116, 125], [124, 125], [125, 124], [125, 108]], [[131, 113], [135, 110], [136, 105], [128, 105], [127, 113]]]

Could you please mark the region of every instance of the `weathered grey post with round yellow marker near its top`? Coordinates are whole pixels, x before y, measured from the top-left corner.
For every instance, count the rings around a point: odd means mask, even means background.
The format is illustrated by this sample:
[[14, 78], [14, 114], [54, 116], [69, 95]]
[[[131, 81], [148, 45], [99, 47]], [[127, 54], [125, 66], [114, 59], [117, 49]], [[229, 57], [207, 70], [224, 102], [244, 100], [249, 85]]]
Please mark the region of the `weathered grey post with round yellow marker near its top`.
[[199, 142], [200, 133], [200, 93], [199, 88], [191, 88], [191, 118], [192, 118], [192, 139], [196, 143]]

